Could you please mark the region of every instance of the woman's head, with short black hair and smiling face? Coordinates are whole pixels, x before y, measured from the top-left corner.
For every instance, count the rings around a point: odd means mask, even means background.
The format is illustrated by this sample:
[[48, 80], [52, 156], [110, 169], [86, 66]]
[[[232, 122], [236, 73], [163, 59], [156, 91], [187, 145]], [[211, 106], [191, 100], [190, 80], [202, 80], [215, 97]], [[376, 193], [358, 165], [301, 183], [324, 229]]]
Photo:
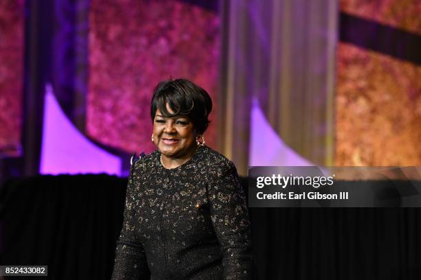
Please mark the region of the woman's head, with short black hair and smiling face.
[[172, 168], [191, 158], [208, 127], [212, 100], [199, 86], [184, 79], [160, 82], [151, 104], [152, 141], [164, 166]]

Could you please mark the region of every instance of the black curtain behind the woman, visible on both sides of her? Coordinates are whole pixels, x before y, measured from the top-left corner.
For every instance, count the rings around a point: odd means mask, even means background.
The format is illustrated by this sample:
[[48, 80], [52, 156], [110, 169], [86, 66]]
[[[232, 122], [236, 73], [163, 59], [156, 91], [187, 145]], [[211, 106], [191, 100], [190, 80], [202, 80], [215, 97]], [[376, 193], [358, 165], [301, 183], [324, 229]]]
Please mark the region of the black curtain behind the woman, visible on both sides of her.
[[[109, 279], [126, 184], [106, 174], [8, 180], [0, 264], [48, 265], [48, 279]], [[420, 208], [252, 208], [250, 218], [255, 279], [421, 275]]]

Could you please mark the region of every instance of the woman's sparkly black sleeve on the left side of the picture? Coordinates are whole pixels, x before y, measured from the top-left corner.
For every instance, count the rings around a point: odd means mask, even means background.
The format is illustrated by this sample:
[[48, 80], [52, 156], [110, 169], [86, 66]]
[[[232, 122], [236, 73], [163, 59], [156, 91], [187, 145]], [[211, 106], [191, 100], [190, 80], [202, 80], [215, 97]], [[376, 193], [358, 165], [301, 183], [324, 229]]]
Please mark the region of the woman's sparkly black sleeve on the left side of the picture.
[[131, 168], [129, 183], [127, 185], [124, 220], [120, 237], [117, 241], [116, 259], [111, 280], [150, 279], [144, 248], [136, 234], [136, 180], [135, 168]]

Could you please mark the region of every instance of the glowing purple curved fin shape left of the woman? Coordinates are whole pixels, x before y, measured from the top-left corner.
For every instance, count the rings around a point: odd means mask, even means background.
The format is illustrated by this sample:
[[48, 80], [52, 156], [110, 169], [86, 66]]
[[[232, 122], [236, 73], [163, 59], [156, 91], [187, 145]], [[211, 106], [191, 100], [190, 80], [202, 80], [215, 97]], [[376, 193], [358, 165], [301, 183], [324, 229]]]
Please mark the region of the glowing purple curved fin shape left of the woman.
[[52, 86], [45, 87], [41, 174], [98, 174], [120, 176], [121, 161], [91, 143], [63, 113]]

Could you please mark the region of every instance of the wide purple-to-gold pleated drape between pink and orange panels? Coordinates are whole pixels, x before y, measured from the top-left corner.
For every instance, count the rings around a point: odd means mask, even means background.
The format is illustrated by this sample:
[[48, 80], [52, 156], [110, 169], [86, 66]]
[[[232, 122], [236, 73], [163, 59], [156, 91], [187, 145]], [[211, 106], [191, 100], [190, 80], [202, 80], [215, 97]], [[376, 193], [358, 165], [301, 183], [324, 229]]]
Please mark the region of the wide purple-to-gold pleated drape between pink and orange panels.
[[219, 148], [241, 174], [253, 97], [286, 144], [332, 164], [337, 17], [333, 0], [222, 1]]

